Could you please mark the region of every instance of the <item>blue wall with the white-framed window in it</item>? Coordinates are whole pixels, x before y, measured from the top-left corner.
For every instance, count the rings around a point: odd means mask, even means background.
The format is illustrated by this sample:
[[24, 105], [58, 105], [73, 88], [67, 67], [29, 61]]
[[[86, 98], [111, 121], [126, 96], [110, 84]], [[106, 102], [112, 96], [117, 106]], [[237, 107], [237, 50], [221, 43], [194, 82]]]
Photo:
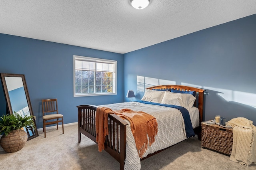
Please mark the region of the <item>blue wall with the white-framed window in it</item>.
[[[117, 95], [73, 97], [73, 55], [117, 61]], [[123, 55], [61, 43], [0, 34], [0, 72], [24, 74], [36, 125], [42, 127], [42, 99], [57, 98], [64, 124], [78, 121], [76, 106], [123, 101]], [[6, 102], [0, 87], [0, 116]]]

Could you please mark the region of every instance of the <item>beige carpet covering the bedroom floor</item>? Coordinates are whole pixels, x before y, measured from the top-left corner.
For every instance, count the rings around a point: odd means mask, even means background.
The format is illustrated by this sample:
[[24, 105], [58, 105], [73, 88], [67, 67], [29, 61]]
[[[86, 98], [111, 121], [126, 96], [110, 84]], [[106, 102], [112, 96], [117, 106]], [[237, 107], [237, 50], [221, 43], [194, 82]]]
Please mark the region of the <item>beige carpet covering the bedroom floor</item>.
[[[18, 152], [0, 148], [0, 170], [118, 170], [119, 163], [82, 135], [78, 143], [77, 125], [42, 131]], [[141, 162], [142, 170], [256, 170], [232, 162], [229, 156], [201, 147], [198, 138], [189, 138]]]

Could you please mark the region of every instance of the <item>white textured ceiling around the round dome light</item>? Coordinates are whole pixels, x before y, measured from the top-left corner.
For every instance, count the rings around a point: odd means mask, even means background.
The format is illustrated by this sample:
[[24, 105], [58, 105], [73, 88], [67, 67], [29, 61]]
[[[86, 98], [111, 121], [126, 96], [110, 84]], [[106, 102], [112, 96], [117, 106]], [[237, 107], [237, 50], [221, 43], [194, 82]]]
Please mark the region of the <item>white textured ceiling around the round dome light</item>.
[[1, 0], [0, 33], [127, 53], [256, 14], [256, 0]]

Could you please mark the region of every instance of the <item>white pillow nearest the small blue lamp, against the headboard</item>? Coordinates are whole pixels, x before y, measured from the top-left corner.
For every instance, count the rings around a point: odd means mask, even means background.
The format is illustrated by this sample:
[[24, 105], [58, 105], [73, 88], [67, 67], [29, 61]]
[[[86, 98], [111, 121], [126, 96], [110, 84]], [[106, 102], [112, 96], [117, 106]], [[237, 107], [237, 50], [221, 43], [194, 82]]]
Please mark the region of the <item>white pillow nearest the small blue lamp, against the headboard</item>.
[[164, 93], [165, 91], [145, 89], [144, 96], [142, 97], [141, 100], [154, 103], [161, 103], [164, 97]]

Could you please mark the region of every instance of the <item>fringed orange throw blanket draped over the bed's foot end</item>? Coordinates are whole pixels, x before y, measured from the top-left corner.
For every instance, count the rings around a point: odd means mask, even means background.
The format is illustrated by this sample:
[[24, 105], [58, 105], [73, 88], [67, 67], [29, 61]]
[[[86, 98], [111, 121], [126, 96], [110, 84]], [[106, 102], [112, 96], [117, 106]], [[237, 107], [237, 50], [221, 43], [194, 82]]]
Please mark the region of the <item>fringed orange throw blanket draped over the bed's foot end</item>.
[[98, 142], [100, 152], [104, 149], [104, 142], [106, 135], [108, 135], [108, 114], [116, 114], [130, 122], [136, 148], [140, 158], [142, 158], [143, 154], [148, 149], [148, 143], [149, 146], [151, 146], [155, 141], [155, 136], [158, 131], [156, 118], [142, 111], [135, 112], [131, 109], [112, 111], [107, 107], [98, 107], [96, 111], [96, 142]]

